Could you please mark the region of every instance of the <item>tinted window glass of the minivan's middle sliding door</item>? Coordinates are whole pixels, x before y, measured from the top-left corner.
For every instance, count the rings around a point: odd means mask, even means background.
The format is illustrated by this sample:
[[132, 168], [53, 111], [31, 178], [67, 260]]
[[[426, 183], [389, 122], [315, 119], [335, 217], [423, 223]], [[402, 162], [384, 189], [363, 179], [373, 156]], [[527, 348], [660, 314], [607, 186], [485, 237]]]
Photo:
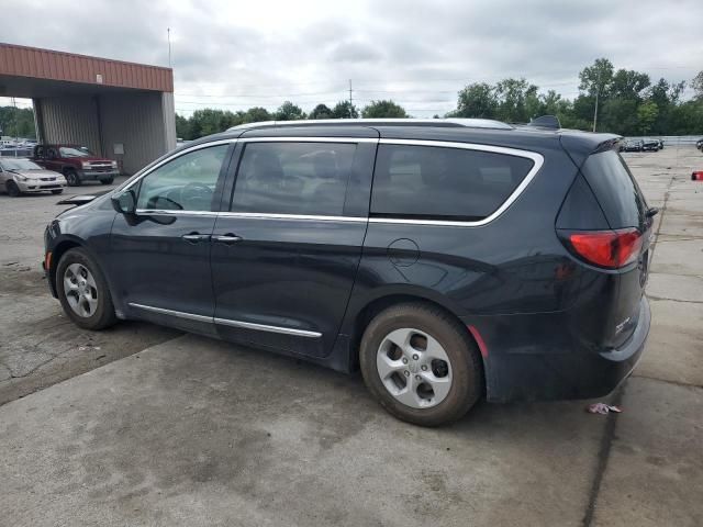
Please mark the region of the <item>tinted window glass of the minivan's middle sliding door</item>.
[[249, 143], [231, 210], [339, 216], [355, 153], [347, 143]]

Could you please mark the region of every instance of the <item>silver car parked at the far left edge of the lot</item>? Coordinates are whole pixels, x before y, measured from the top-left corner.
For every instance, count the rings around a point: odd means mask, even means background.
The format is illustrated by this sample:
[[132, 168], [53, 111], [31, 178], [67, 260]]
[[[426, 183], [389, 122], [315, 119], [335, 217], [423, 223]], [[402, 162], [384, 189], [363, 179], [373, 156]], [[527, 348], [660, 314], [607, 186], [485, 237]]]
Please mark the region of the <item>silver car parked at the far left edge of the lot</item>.
[[0, 190], [15, 198], [23, 193], [51, 191], [60, 194], [66, 178], [22, 157], [0, 157]]

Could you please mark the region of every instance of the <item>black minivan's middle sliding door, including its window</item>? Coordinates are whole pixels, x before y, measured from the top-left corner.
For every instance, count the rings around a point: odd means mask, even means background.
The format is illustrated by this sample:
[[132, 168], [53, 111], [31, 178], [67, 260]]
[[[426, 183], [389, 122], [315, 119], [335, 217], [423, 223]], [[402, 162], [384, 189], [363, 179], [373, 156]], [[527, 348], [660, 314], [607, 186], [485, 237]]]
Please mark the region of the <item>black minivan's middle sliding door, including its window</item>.
[[213, 232], [217, 332], [323, 357], [361, 256], [376, 143], [268, 139], [239, 139], [230, 211]]

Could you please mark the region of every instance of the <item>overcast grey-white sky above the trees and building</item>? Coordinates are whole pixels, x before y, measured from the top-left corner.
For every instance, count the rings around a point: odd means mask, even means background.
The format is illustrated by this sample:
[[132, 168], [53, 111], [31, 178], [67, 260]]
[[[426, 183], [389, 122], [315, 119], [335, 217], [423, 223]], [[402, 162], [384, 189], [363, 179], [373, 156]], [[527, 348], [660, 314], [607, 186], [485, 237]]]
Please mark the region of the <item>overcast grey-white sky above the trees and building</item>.
[[579, 70], [602, 56], [652, 80], [703, 69], [701, 0], [10, 3], [0, 41], [12, 44], [166, 66], [170, 27], [185, 115], [284, 100], [309, 111], [348, 98], [352, 79], [360, 106], [391, 98], [431, 116], [453, 110], [465, 85], [505, 77], [573, 98]]

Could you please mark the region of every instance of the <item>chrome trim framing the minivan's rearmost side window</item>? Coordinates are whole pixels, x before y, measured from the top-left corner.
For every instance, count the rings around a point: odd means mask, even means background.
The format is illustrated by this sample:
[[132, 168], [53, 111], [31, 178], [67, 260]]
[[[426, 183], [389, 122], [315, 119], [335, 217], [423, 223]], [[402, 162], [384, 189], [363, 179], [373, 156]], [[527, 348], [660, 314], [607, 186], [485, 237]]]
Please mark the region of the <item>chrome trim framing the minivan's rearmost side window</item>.
[[[542, 169], [545, 162], [545, 158], [542, 154], [529, 150], [521, 150], [518, 148], [509, 148], [504, 146], [481, 145], [475, 143], [456, 143], [447, 141], [426, 141], [426, 139], [379, 139], [380, 145], [406, 145], [406, 146], [434, 146], [440, 148], [461, 148], [465, 150], [476, 152], [491, 152], [495, 154], [503, 154], [507, 156], [524, 157], [532, 159], [534, 166], [527, 172], [527, 176], [515, 188], [515, 190], [507, 197], [501, 206], [499, 206], [492, 214], [476, 222], [471, 221], [450, 221], [450, 220], [412, 220], [401, 217], [369, 217], [369, 223], [398, 223], [405, 225], [438, 225], [449, 227], [480, 227], [487, 225], [498, 218], [503, 212], [505, 212], [510, 205], [512, 205], [517, 198], [523, 193], [532, 180], [537, 176], [537, 172]], [[370, 214], [370, 211], [369, 211]]]

